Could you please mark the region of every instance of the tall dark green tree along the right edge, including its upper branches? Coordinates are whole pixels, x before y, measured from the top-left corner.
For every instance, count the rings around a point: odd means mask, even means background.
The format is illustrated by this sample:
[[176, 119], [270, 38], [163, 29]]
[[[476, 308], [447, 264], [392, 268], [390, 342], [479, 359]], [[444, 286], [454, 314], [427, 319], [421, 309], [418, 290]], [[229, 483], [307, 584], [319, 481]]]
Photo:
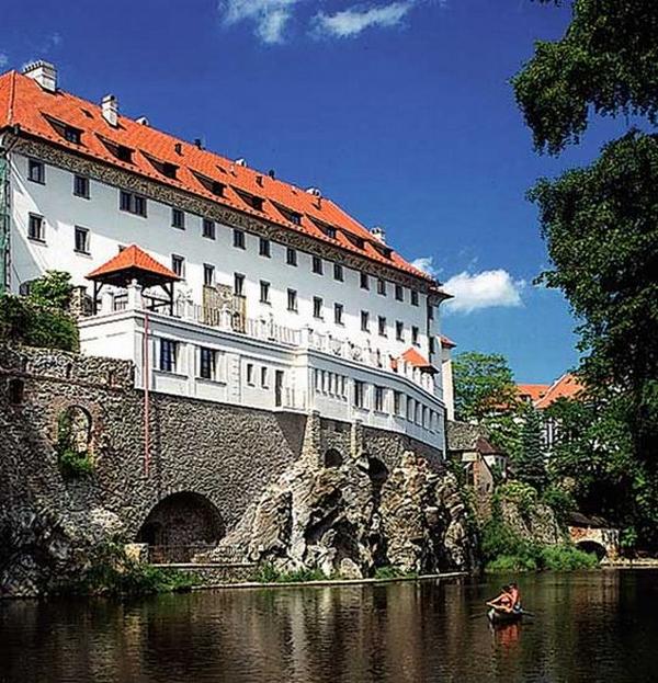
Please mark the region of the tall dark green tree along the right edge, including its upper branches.
[[[658, 3], [574, 0], [571, 7], [565, 36], [537, 43], [513, 79], [535, 147], [551, 153], [577, 143], [592, 114], [657, 123]], [[653, 524], [658, 509], [656, 186], [658, 137], [629, 129], [590, 167], [540, 181], [531, 198], [540, 208], [552, 262], [541, 280], [564, 292], [580, 320], [580, 374], [597, 407], [588, 441], [577, 442], [574, 456], [580, 468], [588, 457], [594, 470], [604, 467], [605, 481], [614, 481], [625, 463], [631, 501], [624, 506], [644, 540], [658, 545]], [[588, 456], [581, 449], [586, 443]]]

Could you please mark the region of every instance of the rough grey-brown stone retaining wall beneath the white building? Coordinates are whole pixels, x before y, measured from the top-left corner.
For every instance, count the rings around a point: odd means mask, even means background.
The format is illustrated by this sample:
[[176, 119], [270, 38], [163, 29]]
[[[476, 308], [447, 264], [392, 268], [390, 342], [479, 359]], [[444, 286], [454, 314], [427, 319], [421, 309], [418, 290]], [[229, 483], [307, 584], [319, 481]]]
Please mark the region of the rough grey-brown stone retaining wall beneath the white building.
[[[321, 474], [326, 456], [348, 464], [365, 463], [366, 470], [372, 462], [387, 473], [404, 470], [406, 474], [396, 475], [401, 477], [402, 487], [407, 486], [405, 477], [413, 478], [417, 470], [424, 471], [433, 492], [429, 498], [427, 492], [417, 496], [418, 510], [413, 508], [416, 503], [407, 504], [406, 514], [415, 524], [422, 505], [436, 504], [436, 482], [444, 475], [441, 454], [406, 436], [325, 421], [315, 414], [273, 413], [158, 394], [150, 395], [147, 473], [145, 397], [134, 388], [133, 373], [132, 364], [123, 361], [0, 348], [2, 594], [48, 592], [58, 581], [77, 576], [88, 561], [90, 549], [104, 539], [144, 540], [148, 534], [183, 530], [186, 510], [195, 501], [198, 509], [190, 517], [194, 524], [202, 525], [204, 515], [212, 517], [212, 524], [200, 532], [198, 540], [219, 542], [225, 533], [230, 537], [231, 532], [246, 524], [246, 517], [253, 513], [269, 487], [286, 473], [288, 477], [293, 471]], [[77, 416], [88, 416], [89, 430], [79, 429], [77, 440], [80, 433], [87, 439], [93, 471], [66, 479], [55, 444], [60, 416], [71, 408]], [[413, 469], [411, 464], [416, 462], [420, 465]], [[406, 469], [400, 469], [404, 463]], [[333, 468], [326, 469], [331, 471], [325, 477], [334, 476]], [[343, 467], [342, 473], [337, 486], [344, 487], [345, 481], [356, 486], [353, 477], [348, 476], [350, 469]], [[364, 504], [370, 504], [372, 491], [366, 499]], [[434, 501], [431, 505], [430, 499]], [[172, 506], [171, 501], [175, 500], [184, 504]], [[383, 502], [381, 506], [385, 509]], [[455, 524], [463, 522], [463, 510], [454, 497], [452, 510], [454, 519], [444, 523], [441, 537], [445, 537], [452, 524], [450, 534], [460, 545], [454, 557], [460, 559], [454, 560], [451, 553], [442, 549], [436, 551], [440, 561], [423, 560], [428, 567], [464, 567], [469, 561], [470, 540], [465, 526], [455, 531]], [[388, 524], [396, 514], [389, 514]], [[450, 516], [441, 510], [439, 514]], [[162, 525], [171, 528], [162, 530]], [[433, 534], [435, 543], [436, 524], [432, 528], [430, 532], [420, 523], [410, 535], [420, 543]], [[208, 534], [217, 537], [208, 538]], [[171, 535], [163, 537], [167, 543], [177, 543]], [[184, 539], [190, 540], [194, 539]], [[263, 545], [258, 538], [251, 540]], [[154, 543], [152, 538], [148, 542]], [[332, 551], [329, 549], [329, 555]], [[341, 553], [339, 560], [349, 555]], [[305, 555], [300, 561], [310, 562], [311, 555]], [[338, 557], [336, 553], [334, 556]], [[348, 559], [355, 559], [359, 573], [374, 566], [371, 560], [360, 564], [359, 557]]]

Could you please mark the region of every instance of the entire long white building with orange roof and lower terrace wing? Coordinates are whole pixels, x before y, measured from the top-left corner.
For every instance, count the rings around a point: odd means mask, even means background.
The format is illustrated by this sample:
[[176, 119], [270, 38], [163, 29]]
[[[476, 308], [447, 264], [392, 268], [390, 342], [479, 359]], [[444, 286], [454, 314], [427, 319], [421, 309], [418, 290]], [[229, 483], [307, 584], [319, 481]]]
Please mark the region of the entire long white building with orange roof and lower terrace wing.
[[11, 292], [54, 269], [92, 295], [88, 275], [133, 244], [124, 266], [146, 252], [179, 278], [171, 307], [156, 288], [105, 286], [80, 322], [84, 353], [133, 360], [140, 388], [317, 410], [444, 449], [446, 295], [383, 230], [121, 116], [113, 95], [64, 92], [46, 62], [0, 76], [0, 148]]

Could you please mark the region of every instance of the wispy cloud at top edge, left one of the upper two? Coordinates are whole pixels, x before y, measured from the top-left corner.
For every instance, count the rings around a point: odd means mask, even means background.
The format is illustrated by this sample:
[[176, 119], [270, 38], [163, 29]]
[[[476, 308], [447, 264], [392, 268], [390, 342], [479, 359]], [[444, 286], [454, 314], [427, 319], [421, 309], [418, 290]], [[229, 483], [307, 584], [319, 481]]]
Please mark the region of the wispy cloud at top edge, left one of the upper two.
[[227, 26], [248, 21], [256, 35], [270, 45], [283, 43], [285, 30], [303, 0], [220, 0], [219, 12]]

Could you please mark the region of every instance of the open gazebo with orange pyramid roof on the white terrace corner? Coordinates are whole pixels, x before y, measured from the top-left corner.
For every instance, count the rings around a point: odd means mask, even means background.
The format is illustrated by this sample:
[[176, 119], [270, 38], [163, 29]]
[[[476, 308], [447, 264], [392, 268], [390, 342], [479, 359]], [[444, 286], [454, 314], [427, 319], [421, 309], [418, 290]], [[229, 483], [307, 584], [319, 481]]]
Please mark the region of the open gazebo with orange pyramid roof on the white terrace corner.
[[144, 289], [162, 287], [167, 295], [169, 312], [173, 315], [173, 283], [181, 278], [166, 265], [131, 244], [122, 249], [115, 257], [87, 275], [93, 282], [93, 314], [98, 312], [101, 289], [105, 285], [127, 288], [136, 281]]

